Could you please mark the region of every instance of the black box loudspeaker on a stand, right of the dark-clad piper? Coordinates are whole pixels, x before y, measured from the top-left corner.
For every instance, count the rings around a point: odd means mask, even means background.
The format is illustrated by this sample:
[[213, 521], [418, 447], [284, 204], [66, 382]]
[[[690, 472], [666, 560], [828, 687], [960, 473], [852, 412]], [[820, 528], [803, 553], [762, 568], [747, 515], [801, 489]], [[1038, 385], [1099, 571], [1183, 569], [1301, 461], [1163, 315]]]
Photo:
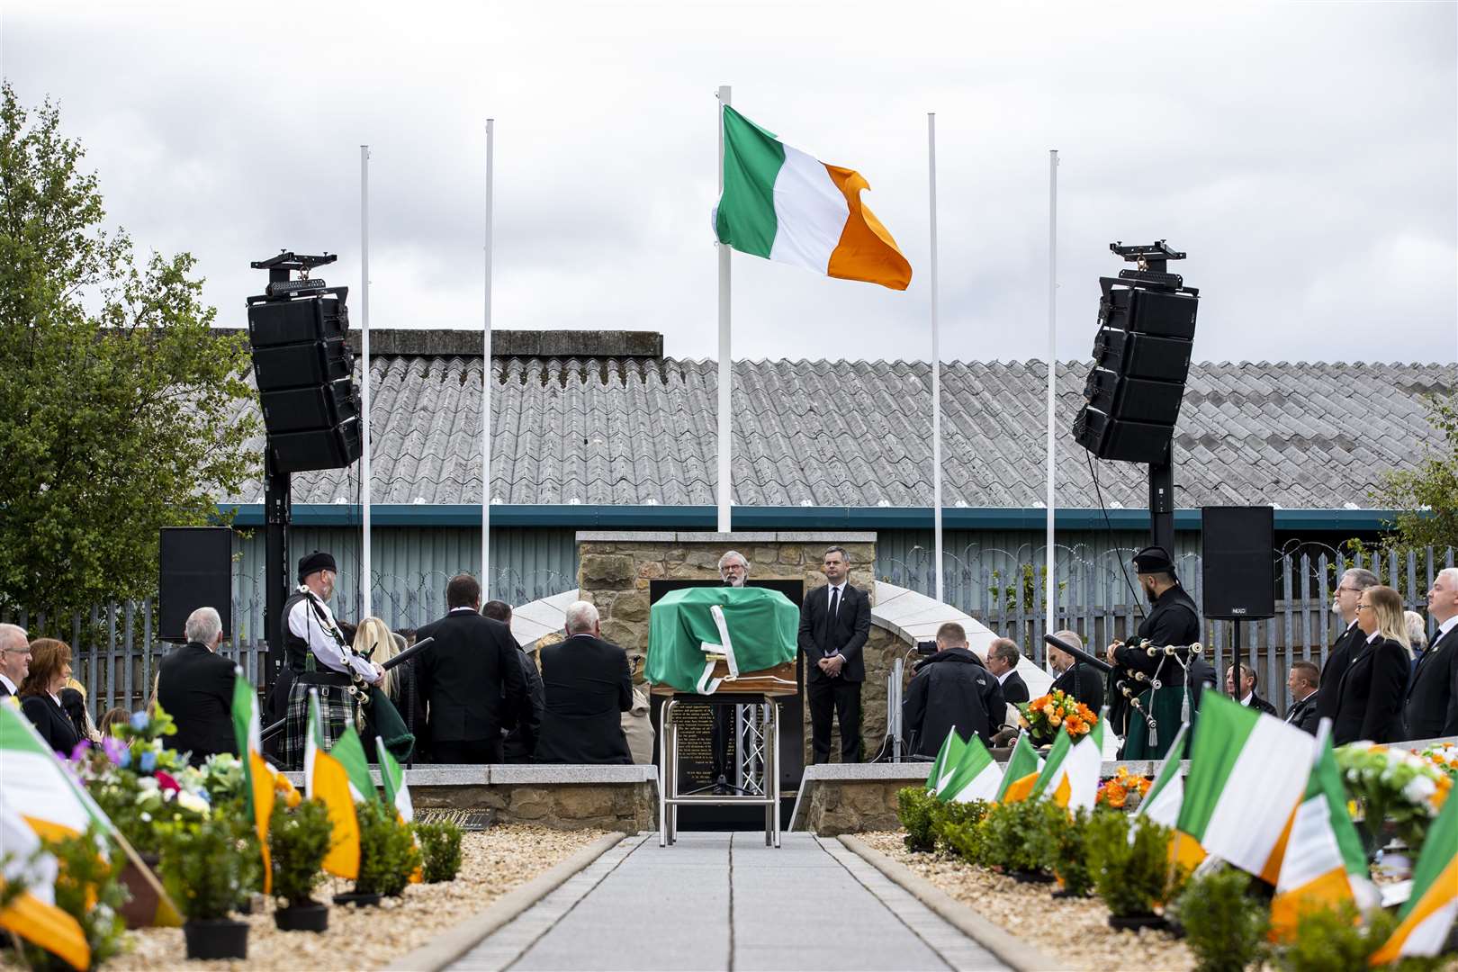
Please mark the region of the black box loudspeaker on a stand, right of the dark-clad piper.
[[1204, 616], [1276, 616], [1276, 513], [1268, 506], [1200, 509]]

